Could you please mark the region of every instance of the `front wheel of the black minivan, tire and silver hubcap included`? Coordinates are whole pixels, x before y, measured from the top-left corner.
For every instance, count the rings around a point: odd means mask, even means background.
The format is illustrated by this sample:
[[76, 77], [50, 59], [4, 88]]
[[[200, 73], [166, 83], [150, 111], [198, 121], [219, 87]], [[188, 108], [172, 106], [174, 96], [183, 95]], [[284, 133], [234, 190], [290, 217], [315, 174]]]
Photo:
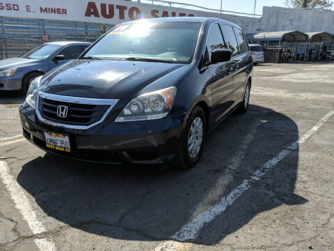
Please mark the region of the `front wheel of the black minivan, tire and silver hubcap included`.
[[[201, 127], [200, 124], [202, 125]], [[200, 130], [202, 133], [200, 133]], [[198, 133], [196, 133], [196, 131]], [[200, 160], [200, 155], [202, 154], [203, 145], [205, 143], [205, 132], [205, 112], [200, 106], [196, 106], [191, 111], [191, 114], [186, 122], [186, 128], [180, 138], [180, 143], [177, 148], [177, 156], [175, 159], [175, 166], [177, 168], [190, 169], [196, 165], [198, 160]], [[200, 135], [202, 135], [202, 139], [200, 139]], [[192, 148], [191, 144], [193, 144]], [[199, 146], [199, 148], [196, 146]], [[189, 151], [189, 149], [192, 150]]]

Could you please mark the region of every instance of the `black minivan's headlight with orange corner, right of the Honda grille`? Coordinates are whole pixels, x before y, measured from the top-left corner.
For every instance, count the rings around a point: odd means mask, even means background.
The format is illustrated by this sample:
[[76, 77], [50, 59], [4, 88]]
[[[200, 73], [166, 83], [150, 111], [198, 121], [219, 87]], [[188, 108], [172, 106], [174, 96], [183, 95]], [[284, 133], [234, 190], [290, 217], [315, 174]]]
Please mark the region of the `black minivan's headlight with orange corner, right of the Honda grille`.
[[152, 91], [133, 98], [118, 115], [116, 122], [161, 119], [172, 109], [176, 87]]

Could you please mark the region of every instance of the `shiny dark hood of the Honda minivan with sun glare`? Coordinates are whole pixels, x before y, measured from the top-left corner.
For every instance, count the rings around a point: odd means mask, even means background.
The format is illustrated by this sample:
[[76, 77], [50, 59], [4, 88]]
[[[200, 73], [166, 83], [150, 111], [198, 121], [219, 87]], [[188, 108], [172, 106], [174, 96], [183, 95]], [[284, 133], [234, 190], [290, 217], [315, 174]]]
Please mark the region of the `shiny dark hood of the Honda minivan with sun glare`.
[[184, 67], [176, 63], [77, 59], [44, 75], [40, 91], [80, 98], [133, 98], [152, 82]]

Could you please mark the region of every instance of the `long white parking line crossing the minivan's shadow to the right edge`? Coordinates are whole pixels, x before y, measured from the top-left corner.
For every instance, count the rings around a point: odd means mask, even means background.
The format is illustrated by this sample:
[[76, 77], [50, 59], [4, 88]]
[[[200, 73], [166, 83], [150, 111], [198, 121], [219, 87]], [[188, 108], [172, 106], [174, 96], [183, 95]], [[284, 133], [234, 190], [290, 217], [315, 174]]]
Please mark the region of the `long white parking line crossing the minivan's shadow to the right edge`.
[[223, 213], [223, 211], [226, 210], [228, 206], [233, 204], [233, 202], [238, 199], [246, 190], [250, 188], [252, 183], [255, 181], [258, 181], [264, 174], [267, 174], [267, 172], [271, 171], [273, 167], [275, 167], [280, 160], [283, 160], [291, 151], [296, 150], [297, 147], [300, 144], [303, 144], [306, 139], [310, 138], [319, 128], [334, 114], [334, 111], [328, 112], [313, 128], [308, 130], [303, 136], [299, 138], [296, 142], [292, 143], [291, 145], [287, 146], [287, 149], [284, 149], [283, 151], [280, 151], [278, 155], [271, 160], [268, 160], [262, 167], [257, 169], [257, 171], [254, 173], [253, 176], [250, 176], [250, 178], [245, 179], [237, 188], [232, 190], [229, 195], [226, 197], [221, 198], [220, 201], [218, 201], [217, 204], [214, 206], [211, 206], [207, 209], [207, 211], [204, 211], [203, 213], [200, 213], [196, 218], [194, 218], [191, 222], [184, 225], [179, 231], [177, 231], [173, 236], [170, 238], [172, 240], [165, 241], [164, 243], [161, 243], [156, 248], [154, 248], [153, 251], [172, 251], [172, 250], [178, 250], [179, 248], [184, 245], [180, 241], [187, 241], [191, 238], [194, 238], [198, 231], [206, 224], [214, 220], [216, 216]]

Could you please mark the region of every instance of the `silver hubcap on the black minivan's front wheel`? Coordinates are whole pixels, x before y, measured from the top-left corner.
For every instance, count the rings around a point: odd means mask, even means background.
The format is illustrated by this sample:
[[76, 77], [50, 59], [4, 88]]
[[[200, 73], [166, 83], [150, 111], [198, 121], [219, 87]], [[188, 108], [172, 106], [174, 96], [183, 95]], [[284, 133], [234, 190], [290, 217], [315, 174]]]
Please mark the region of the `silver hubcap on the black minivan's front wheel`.
[[196, 117], [191, 123], [188, 135], [188, 152], [191, 158], [196, 158], [200, 151], [203, 139], [203, 123], [200, 117]]

